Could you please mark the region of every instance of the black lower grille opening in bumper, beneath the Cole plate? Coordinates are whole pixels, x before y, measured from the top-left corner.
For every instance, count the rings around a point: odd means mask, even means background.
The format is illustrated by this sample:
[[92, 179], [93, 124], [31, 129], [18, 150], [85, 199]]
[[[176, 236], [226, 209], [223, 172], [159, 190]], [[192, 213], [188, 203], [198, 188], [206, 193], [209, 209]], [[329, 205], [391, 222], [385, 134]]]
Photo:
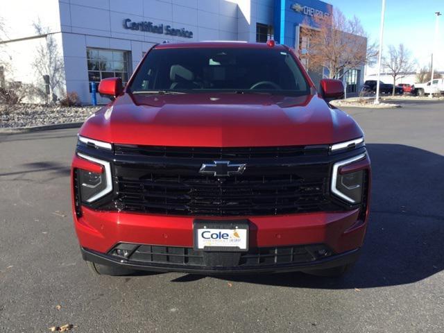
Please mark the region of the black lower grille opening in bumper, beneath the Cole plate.
[[[112, 254], [113, 251], [110, 251], [110, 253]], [[332, 254], [332, 250], [323, 244], [251, 248], [246, 253], [240, 253], [239, 263], [236, 266], [247, 267], [314, 262], [317, 259], [329, 257]], [[164, 263], [185, 266], [207, 266], [205, 265], [204, 251], [176, 246], [141, 245], [128, 257], [128, 261], [142, 264]]]

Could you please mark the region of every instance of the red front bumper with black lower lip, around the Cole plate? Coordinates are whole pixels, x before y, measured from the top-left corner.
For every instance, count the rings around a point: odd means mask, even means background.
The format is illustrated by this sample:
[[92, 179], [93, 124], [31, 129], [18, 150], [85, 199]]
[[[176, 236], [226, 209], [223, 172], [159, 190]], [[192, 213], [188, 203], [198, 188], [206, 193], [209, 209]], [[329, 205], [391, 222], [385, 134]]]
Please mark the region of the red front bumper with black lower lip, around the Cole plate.
[[194, 218], [189, 216], [102, 212], [82, 207], [82, 216], [77, 217], [74, 214], [74, 221], [85, 260], [146, 271], [232, 274], [310, 271], [355, 262], [367, 226], [366, 219], [361, 220], [361, 216], [364, 215], [359, 209], [348, 212], [248, 216], [251, 250], [316, 244], [331, 250], [328, 257], [314, 257], [305, 262], [281, 263], [277, 260], [271, 264], [265, 262], [260, 265], [240, 265], [237, 262], [223, 265], [137, 262], [110, 255], [114, 246], [120, 243], [193, 248]]

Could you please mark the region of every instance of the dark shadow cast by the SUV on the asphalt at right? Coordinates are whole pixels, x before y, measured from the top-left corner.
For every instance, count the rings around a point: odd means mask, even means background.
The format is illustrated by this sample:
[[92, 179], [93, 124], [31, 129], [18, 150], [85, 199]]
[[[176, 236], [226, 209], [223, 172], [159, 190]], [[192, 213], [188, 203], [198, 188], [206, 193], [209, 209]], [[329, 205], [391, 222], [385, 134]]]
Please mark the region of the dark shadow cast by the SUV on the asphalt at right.
[[[303, 273], [216, 278], [284, 287], [352, 289], [408, 284], [444, 269], [444, 157], [399, 144], [367, 144], [373, 167], [366, 241], [342, 278]], [[184, 275], [174, 282], [202, 278]]]

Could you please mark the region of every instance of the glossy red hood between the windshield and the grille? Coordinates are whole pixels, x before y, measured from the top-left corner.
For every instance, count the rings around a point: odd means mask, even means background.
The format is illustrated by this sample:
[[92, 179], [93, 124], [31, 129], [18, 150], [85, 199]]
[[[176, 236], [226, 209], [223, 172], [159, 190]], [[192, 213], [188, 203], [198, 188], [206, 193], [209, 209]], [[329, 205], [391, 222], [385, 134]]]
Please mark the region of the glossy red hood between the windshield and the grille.
[[299, 146], [363, 135], [317, 95], [124, 94], [89, 117], [80, 135], [151, 146]]

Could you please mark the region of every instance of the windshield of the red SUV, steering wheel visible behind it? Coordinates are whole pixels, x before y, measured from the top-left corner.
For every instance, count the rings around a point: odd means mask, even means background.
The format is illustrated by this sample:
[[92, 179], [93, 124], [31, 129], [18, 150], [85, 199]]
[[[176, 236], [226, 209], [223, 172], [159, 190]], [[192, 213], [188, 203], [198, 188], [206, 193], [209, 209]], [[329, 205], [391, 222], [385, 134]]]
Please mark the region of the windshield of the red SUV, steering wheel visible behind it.
[[153, 49], [130, 91], [302, 95], [309, 94], [309, 85], [282, 49]]

